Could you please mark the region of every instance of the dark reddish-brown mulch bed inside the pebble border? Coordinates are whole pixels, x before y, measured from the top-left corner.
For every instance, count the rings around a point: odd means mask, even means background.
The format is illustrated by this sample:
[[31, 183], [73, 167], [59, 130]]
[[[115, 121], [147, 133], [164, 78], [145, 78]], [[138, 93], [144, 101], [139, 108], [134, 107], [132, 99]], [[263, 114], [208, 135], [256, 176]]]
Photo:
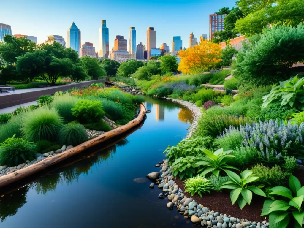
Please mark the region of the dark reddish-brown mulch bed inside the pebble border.
[[[261, 217], [261, 212], [263, 208], [263, 203], [265, 201], [264, 197], [258, 195], [253, 196], [250, 206], [247, 204], [242, 210], [238, 206], [237, 202], [232, 205], [230, 199], [230, 192], [215, 192], [212, 191], [211, 194], [199, 195], [195, 194], [191, 196], [185, 192], [185, 187], [183, 181], [179, 178], [174, 179], [178, 187], [183, 191], [184, 195], [187, 197], [192, 197], [196, 202], [201, 203], [204, 207], [219, 212], [221, 214], [231, 215], [232, 217], [239, 219], [248, 219], [251, 222], [262, 222], [265, 220], [265, 216]], [[268, 220], [268, 218], [266, 219]]]

